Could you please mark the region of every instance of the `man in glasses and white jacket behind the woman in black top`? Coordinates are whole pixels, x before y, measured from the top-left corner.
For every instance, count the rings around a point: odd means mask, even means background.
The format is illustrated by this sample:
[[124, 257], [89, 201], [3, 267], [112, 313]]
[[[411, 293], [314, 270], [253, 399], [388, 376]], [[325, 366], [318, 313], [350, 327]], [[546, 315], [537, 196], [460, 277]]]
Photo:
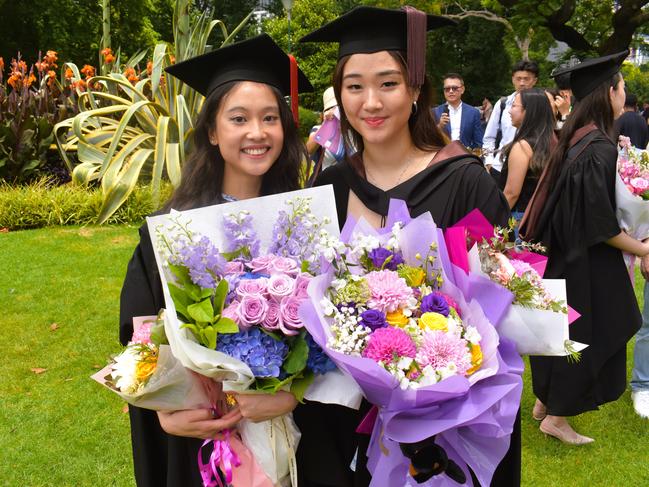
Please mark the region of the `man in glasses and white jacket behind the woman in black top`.
[[503, 97], [494, 105], [493, 112], [487, 123], [482, 143], [485, 167], [498, 181], [503, 163], [500, 151], [509, 144], [516, 134], [516, 127], [512, 125], [509, 111], [514, 103], [514, 96], [519, 91], [533, 88], [539, 76], [539, 67], [534, 61], [519, 61], [512, 67], [512, 84], [514, 92], [508, 97]]

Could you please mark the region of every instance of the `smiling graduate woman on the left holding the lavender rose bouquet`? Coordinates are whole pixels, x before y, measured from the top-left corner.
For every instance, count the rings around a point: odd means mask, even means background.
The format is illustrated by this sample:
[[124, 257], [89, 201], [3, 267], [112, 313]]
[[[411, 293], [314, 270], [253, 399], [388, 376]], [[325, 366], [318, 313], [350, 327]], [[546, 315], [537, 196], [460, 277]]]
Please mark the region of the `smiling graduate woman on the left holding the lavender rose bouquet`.
[[[206, 97], [195, 126], [194, 148], [166, 209], [201, 206], [299, 188], [306, 150], [291, 111], [288, 56], [267, 35], [232, 44], [167, 71]], [[312, 91], [299, 71], [298, 88]], [[132, 334], [135, 316], [165, 307], [147, 226], [133, 253], [121, 294], [120, 341]], [[279, 395], [278, 395], [279, 394]], [[288, 392], [239, 396], [238, 408], [216, 418], [209, 409], [158, 412], [129, 406], [135, 479], [139, 487], [202, 486], [197, 456], [243, 417], [260, 421], [291, 411]], [[203, 449], [204, 461], [211, 452]]]

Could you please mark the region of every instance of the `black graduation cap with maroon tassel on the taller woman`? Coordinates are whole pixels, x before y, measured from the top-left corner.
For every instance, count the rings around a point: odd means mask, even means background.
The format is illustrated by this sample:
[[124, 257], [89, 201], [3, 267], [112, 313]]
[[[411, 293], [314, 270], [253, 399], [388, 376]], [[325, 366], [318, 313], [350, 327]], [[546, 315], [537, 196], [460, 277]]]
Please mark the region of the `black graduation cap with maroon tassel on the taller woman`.
[[421, 86], [426, 72], [426, 32], [447, 25], [455, 25], [455, 21], [413, 7], [393, 10], [361, 6], [307, 34], [300, 42], [338, 42], [338, 59], [359, 53], [404, 51], [409, 84]]

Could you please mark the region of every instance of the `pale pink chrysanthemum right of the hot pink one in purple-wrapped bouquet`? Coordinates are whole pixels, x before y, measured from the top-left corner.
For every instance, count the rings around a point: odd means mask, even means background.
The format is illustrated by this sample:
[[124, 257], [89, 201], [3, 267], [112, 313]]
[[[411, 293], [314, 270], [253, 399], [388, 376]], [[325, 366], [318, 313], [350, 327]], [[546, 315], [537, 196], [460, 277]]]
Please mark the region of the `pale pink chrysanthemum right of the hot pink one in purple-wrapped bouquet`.
[[439, 330], [426, 332], [415, 360], [421, 368], [430, 365], [441, 369], [454, 363], [460, 375], [465, 375], [471, 368], [471, 353], [466, 340]]

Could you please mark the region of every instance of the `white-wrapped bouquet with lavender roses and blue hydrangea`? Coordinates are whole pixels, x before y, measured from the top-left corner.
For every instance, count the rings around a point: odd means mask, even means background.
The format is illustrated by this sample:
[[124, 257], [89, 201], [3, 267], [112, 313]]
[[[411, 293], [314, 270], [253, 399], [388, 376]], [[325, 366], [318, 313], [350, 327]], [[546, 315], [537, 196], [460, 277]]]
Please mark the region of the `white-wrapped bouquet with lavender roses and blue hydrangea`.
[[[221, 383], [226, 393], [290, 390], [299, 400], [359, 406], [360, 392], [298, 314], [320, 266], [319, 242], [337, 232], [333, 207], [321, 205], [329, 213], [320, 217], [311, 210], [308, 195], [327, 191], [148, 219], [163, 278], [165, 332], [184, 366]], [[333, 195], [319, 201], [333, 201]], [[299, 432], [291, 415], [244, 420], [238, 432], [274, 485], [297, 484]]]

